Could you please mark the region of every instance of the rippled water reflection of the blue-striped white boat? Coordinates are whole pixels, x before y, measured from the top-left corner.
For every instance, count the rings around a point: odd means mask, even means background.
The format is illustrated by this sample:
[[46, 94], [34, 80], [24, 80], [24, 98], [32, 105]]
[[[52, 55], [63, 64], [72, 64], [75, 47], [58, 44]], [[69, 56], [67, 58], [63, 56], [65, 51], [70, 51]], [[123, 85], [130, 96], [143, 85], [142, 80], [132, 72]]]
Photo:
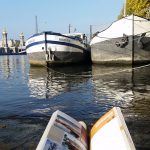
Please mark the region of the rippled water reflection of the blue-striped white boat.
[[[37, 98], [51, 98], [78, 88], [86, 78], [80, 76], [87, 70], [87, 66], [72, 66], [45, 68], [30, 67], [29, 88], [31, 96]], [[79, 77], [78, 77], [79, 76]]]

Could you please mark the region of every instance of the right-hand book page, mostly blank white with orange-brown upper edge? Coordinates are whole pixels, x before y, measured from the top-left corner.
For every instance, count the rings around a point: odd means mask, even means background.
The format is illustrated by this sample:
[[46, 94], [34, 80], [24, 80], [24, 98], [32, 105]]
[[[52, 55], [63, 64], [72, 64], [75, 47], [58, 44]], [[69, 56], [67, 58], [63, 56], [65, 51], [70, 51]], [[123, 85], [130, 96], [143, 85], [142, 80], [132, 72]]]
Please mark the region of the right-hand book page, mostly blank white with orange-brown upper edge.
[[120, 108], [103, 115], [93, 126], [90, 138], [91, 150], [135, 150]]

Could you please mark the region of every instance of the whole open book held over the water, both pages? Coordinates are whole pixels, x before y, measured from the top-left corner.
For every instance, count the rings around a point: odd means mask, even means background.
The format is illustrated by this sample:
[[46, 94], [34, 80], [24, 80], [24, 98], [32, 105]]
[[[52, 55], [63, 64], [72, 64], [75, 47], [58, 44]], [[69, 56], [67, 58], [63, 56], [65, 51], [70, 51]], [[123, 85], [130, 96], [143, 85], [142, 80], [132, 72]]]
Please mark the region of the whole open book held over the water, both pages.
[[135, 150], [119, 107], [104, 114], [94, 124], [90, 134], [77, 120], [57, 110], [53, 113], [36, 150], [87, 149]]

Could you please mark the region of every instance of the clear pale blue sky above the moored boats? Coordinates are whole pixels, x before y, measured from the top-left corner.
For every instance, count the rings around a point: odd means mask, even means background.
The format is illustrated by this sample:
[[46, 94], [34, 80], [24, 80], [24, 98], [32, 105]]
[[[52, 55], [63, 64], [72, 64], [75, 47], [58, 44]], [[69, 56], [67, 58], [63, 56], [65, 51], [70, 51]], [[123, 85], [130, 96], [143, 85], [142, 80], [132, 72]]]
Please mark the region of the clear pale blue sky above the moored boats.
[[71, 31], [89, 34], [117, 20], [124, 0], [0, 0], [0, 39], [4, 29], [8, 39], [25, 39], [38, 30], [68, 33]]

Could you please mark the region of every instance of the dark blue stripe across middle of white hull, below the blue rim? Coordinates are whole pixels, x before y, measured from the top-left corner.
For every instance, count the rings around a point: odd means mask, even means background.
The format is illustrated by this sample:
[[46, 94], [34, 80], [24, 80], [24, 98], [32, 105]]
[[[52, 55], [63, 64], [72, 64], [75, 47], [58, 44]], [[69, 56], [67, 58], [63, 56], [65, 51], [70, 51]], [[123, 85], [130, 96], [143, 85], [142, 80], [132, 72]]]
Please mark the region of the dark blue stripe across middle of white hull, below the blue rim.
[[[45, 41], [34, 42], [34, 43], [27, 45], [26, 49], [28, 49], [29, 47], [39, 45], [39, 44], [44, 44], [44, 43], [45, 43]], [[57, 44], [57, 45], [70, 46], [70, 47], [78, 48], [81, 50], [85, 50], [85, 48], [78, 46], [78, 45], [75, 45], [75, 44], [72, 44], [72, 43], [66, 43], [66, 42], [60, 42], [60, 41], [51, 41], [51, 40], [47, 40], [46, 43], [47, 44]]]

